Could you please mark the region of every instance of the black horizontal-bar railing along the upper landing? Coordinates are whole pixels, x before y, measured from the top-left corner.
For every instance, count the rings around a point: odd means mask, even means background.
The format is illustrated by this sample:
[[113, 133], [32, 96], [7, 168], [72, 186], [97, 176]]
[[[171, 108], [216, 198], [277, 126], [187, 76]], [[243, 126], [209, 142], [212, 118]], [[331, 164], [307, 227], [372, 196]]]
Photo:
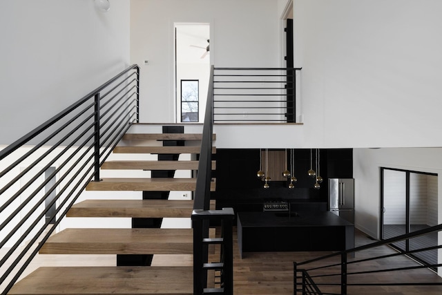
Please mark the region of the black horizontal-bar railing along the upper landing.
[[215, 123], [296, 123], [301, 68], [215, 68]]

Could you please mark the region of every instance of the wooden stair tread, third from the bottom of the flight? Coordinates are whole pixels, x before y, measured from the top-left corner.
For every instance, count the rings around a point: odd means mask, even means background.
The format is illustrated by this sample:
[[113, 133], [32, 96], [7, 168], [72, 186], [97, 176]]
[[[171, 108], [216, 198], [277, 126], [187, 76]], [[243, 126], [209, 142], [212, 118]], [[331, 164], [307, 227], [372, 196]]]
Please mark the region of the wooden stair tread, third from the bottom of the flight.
[[[211, 200], [211, 210], [215, 200]], [[190, 218], [193, 200], [84, 200], [68, 217]]]

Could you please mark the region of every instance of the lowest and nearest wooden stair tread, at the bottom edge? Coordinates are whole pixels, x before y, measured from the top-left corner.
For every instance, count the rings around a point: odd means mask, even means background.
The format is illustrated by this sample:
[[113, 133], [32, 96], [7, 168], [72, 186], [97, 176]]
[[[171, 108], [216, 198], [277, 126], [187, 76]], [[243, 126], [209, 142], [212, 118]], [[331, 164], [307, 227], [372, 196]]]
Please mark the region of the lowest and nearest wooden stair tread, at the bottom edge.
[[193, 294], [192, 267], [40, 267], [8, 294]]

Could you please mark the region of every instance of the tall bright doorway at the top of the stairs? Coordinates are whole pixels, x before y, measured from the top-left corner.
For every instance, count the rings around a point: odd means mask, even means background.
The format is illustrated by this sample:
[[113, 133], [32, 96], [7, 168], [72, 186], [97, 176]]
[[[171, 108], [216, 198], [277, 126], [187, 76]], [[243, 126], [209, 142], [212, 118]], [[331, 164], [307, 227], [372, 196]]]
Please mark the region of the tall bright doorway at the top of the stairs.
[[210, 55], [209, 23], [175, 23], [177, 122], [204, 122]]

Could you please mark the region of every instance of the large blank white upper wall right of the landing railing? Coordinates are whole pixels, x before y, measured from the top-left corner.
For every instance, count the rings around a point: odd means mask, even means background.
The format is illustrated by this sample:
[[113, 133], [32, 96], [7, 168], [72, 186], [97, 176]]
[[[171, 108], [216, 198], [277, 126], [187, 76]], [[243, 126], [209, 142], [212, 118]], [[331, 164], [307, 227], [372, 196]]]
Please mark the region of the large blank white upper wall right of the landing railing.
[[441, 146], [442, 1], [294, 0], [305, 143]]

